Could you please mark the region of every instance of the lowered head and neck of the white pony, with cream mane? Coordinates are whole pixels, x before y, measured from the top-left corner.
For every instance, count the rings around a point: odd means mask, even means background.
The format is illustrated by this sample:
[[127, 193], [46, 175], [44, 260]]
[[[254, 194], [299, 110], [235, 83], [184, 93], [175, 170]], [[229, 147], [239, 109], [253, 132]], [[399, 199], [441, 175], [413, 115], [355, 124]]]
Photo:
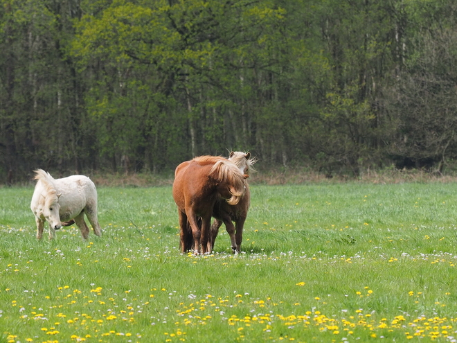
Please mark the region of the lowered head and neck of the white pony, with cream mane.
[[[54, 186], [54, 179], [44, 170], [39, 169], [35, 170], [34, 179], [38, 182], [42, 182], [42, 193], [40, 195], [41, 199], [39, 202], [42, 202], [42, 216], [49, 223], [49, 225], [58, 230], [62, 227], [62, 222], [60, 221], [60, 204], [59, 197], [60, 194], [57, 194], [57, 190]], [[41, 206], [40, 206], [41, 207]]]

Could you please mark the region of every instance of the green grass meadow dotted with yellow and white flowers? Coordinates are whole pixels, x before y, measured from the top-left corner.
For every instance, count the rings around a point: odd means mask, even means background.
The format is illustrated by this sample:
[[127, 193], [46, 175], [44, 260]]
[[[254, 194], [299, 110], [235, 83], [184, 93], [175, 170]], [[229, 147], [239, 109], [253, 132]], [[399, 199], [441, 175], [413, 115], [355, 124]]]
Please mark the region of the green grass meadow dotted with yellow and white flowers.
[[457, 184], [251, 192], [242, 254], [192, 256], [170, 186], [99, 187], [85, 242], [0, 188], [0, 342], [456, 342]]

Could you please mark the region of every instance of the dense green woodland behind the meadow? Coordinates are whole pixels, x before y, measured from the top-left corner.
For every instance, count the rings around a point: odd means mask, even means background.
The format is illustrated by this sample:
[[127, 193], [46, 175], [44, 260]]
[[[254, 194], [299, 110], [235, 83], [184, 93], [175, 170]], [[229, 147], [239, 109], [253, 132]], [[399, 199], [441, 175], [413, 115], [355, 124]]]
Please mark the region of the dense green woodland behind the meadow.
[[325, 175], [457, 160], [456, 1], [0, 2], [0, 184], [227, 149]]

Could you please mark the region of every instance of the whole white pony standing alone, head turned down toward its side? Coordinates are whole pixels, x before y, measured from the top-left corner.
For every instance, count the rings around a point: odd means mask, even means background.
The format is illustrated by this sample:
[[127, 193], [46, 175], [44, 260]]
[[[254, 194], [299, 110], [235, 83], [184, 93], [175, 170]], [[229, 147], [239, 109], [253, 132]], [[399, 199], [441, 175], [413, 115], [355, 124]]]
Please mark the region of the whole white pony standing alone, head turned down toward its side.
[[[42, 169], [35, 170], [37, 180], [30, 209], [37, 222], [37, 239], [42, 239], [44, 222], [49, 224], [49, 239], [54, 230], [75, 224], [80, 228], [82, 238], [89, 237], [89, 227], [84, 221], [84, 213], [92, 225], [94, 234], [102, 236], [97, 219], [97, 190], [91, 179], [83, 175], [73, 175], [54, 179]], [[63, 222], [62, 220], [71, 220]]]

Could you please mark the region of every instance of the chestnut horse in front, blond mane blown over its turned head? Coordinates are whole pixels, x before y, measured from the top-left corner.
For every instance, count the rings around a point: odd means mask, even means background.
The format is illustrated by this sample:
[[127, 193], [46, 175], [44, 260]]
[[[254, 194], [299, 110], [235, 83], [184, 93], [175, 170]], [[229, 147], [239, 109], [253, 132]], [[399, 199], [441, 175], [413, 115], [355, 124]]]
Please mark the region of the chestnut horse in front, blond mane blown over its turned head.
[[195, 254], [206, 254], [211, 251], [213, 207], [218, 201], [238, 204], [246, 191], [246, 177], [223, 157], [195, 157], [177, 166], [172, 192], [178, 206], [181, 252], [192, 249]]

